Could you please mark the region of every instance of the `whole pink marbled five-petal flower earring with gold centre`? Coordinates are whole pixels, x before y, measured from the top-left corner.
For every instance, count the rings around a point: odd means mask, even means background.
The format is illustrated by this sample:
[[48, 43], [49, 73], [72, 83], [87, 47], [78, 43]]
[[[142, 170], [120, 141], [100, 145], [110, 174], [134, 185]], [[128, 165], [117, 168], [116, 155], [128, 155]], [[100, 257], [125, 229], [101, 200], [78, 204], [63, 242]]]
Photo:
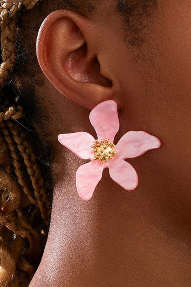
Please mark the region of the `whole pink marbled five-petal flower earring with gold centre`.
[[113, 140], [119, 130], [119, 119], [117, 104], [113, 100], [98, 104], [90, 112], [90, 123], [96, 130], [96, 140], [87, 132], [58, 135], [62, 145], [79, 158], [90, 160], [76, 172], [76, 187], [81, 198], [89, 200], [93, 196], [106, 167], [109, 168], [111, 178], [125, 190], [135, 189], [138, 184], [137, 173], [124, 159], [135, 158], [149, 149], [159, 148], [159, 139], [144, 131], [129, 131], [115, 146]]

